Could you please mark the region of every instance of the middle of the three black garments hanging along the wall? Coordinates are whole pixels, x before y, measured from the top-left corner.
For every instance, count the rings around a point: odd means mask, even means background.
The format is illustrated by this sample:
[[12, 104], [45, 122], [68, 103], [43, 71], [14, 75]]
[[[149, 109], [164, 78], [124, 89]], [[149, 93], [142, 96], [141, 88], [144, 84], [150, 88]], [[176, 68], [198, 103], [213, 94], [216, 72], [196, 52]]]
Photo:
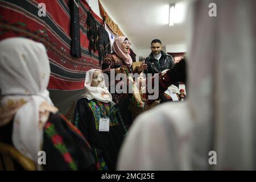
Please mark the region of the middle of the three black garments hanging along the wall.
[[93, 52], [96, 52], [96, 44], [97, 44], [97, 26], [96, 26], [96, 20], [94, 19], [93, 15], [90, 13], [90, 11], [87, 12], [87, 38], [89, 39], [89, 53], [92, 57], [92, 50]]

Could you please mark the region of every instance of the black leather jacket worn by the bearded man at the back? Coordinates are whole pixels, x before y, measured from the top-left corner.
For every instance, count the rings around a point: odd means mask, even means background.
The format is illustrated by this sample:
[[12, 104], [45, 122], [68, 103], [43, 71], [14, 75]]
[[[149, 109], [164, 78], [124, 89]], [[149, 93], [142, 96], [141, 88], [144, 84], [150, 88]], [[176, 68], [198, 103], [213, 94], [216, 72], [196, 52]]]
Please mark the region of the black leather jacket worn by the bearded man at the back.
[[168, 55], [161, 51], [162, 56], [159, 61], [156, 60], [151, 52], [150, 55], [146, 58], [145, 63], [147, 64], [147, 69], [144, 70], [144, 73], [161, 73], [164, 69], [172, 69], [174, 67], [174, 59], [171, 55]]

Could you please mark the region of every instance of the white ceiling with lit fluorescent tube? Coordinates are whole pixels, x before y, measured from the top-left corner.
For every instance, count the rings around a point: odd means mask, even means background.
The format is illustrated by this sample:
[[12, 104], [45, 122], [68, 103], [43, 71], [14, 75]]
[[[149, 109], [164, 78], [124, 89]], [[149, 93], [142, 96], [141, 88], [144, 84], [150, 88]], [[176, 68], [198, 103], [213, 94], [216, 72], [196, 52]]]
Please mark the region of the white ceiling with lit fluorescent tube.
[[[160, 39], [163, 46], [185, 44], [187, 23], [168, 25], [169, 5], [181, 0], [100, 0], [105, 9], [125, 32], [137, 49], [148, 49], [152, 39]], [[187, 1], [183, 3], [184, 13]], [[181, 7], [182, 8], [182, 7]], [[181, 11], [179, 11], [181, 13]], [[181, 18], [180, 15], [179, 18]], [[184, 15], [185, 16], [185, 15]], [[184, 18], [185, 20], [187, 18]]]

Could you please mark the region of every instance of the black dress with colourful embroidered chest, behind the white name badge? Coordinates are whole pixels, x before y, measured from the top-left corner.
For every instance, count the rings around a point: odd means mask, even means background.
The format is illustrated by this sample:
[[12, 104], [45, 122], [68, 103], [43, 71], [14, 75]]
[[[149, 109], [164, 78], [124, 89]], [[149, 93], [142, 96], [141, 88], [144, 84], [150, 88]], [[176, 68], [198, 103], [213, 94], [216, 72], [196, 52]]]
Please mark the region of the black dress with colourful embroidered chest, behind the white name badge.
[[[98, 131], [100, 118], [109, 119], [109, 131]], [[77, 101], [75, 126], [85, 135], [101, 170], [114, 170], [126, 128], [116, 106], [97, 100]]]

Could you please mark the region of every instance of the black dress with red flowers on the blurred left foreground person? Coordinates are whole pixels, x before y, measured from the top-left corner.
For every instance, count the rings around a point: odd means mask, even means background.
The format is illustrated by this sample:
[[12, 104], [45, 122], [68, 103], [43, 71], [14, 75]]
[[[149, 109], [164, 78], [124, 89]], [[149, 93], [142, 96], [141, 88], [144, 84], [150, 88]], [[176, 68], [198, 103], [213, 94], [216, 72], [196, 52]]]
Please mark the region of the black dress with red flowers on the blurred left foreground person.
[[[13, 121], [0, 127], [0, 142], [13, 146]], [[46, 152], [44, 170], [95, 170], [92, 148], [81, 132], [59, 113], [50, 114], [43, 129], [42, 150]], [[15, 170], [23, 170], [14, 160]]]

